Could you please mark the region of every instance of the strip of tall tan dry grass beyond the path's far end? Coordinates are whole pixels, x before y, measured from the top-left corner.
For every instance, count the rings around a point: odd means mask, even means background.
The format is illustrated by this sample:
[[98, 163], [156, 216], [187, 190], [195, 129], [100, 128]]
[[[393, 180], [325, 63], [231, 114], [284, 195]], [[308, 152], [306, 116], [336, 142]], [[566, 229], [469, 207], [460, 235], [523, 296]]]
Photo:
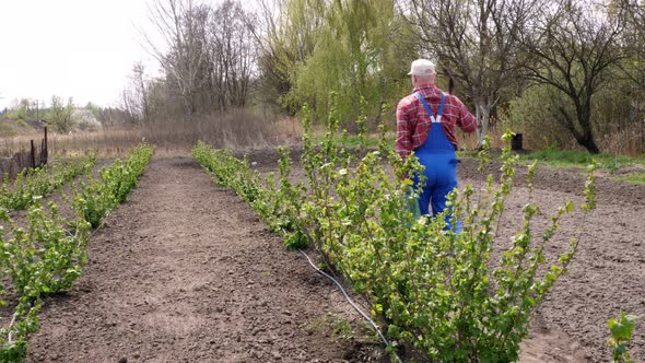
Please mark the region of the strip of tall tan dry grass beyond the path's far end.
[[[94, 132], [49, 133], [49, 152], [74, 155], [87, 149], [99, 156], [122, 156], [133, 145], [145, 141], [155, 145], [157, 154], [185, 154], [202, 140], [216, 148], [251, 150], [292, 143], [300, 140], [300, 121], [293, 118], [268, 119], [248, 110], [196, 118], [192, 122], [150, 122], [104, 128]], [[0, 153], [10, 153], [30, 144], [38, 136], [0, 139]]]

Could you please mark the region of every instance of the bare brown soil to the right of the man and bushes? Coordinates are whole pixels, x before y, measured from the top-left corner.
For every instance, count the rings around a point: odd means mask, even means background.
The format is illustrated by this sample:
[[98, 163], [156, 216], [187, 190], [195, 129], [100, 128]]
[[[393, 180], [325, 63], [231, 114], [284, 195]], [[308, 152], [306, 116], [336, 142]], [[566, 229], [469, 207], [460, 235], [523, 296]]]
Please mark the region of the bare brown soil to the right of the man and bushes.
[[[461, 163], [461, 184], [482, 187], [477, 166], [474, 160]], [[496, 171], [499, 165], [489, 168], [493, 174]], [[521, 208], [529, 201], [529, 189], [523, 182], [526, 168], [519, 167], [517, 174], [517, 186], [506, 202], [497, 256], [519, 231]], [[579, 237], [580, 245], [568, 273], [556, 282], [532, 320], [521, 361], [609, 362], [612, 355], [607, 344], [610, 338], [607, 320], [619, 317], [621, 311], [645, 317], [645, 186], [599, 176], [597, 209], [585, 218], [578, 208], [585, 178], [584, 171], [575, 168], [538, 169], [533, 201], [543, 215], [535, 221], [535, 232], [541, 233], [550, 224], [549, 216], [564, 201], [576, 204], [576, 211], [560, 223], [558, 235], [549, 243], [548, 259], [554, 262], [571, 237]], [[635, 329], [631, 347], [632, 359], [645, 362], [642, 323]]]

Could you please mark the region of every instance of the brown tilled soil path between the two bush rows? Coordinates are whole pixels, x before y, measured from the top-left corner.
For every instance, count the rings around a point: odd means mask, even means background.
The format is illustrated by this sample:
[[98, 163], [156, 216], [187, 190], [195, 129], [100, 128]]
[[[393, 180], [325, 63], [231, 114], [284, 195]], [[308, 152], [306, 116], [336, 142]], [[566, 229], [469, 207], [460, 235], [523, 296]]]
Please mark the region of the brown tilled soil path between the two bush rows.
[[388, 361], [343, 339], [359, 325], [340, 293], [190, 159], [153, 161], [89, 257], [27, 362]]

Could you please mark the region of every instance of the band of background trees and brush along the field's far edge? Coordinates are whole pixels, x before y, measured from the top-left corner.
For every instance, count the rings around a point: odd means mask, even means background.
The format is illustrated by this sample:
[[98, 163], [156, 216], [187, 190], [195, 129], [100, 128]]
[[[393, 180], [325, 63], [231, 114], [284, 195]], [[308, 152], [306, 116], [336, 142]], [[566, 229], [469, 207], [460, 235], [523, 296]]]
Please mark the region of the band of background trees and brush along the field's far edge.
[[[332, 91], [341, 127], [356, 131], [350, 120], [363, 97], [367, 129], [385, 118], [394, 130], [396, 104], [411, 91], [410, 61], [426, 57], [453, 70], [455, 93], [478, 117], [469, 147], [511, 127], [532, 149], [645, 152], [642, 0], [149, 4], [143, 46], [160, 75], [134, 63], [119, 107], [79, 107], [56, 96], [46, 108], [16, 101], [0, 113], [2, 134], [37, 119], [61, 133], [167, 125], [200, 134], [200, 125], [231, 110], [271, 124], [298, 116], [305, 103], [316, 126]], [[446, 81], [439, 74], [439, 86]]]

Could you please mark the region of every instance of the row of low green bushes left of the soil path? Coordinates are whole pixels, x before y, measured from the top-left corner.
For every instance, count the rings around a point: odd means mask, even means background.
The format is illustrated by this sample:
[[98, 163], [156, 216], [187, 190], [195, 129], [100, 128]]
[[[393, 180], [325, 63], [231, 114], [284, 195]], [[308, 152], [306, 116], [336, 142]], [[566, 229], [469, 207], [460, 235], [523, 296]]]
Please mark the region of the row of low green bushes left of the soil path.
[[87, 183], [72, 186], [74, 196], [69, 199], [73, 198], [77, 218], [71, 221], [59, 214], [54, 202], [45, 206], [39, 197], [28, 209], [26, 229], [0, 208], [0, 220], [12, 235], [7, 239], [0, 231], [0, 304], [7, 305], [3, 297], [8, 292], [17, 297], [11, 321], [0, 328], [1, 362], [20, 362], [25, 356], [28, 335], [39, 329], [44, 298], [69, 289], [81, 276], [91, 229], [126, 200], [152, 153], [149, 145], [137, 147], [126, 162], [117, 160], [102, 169], [99, 179], [89, 174]]

